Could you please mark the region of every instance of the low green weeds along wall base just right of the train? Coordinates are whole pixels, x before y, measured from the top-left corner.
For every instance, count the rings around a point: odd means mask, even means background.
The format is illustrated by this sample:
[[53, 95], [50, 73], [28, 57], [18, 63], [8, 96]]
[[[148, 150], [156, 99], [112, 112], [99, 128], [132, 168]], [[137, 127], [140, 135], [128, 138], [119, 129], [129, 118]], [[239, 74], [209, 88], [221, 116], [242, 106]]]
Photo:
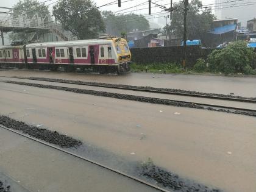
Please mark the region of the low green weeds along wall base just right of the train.
[[148, 65], [132, 63], [132, 71], [148, 71], [149, 73], [183, 73], [181, 65], [176, 63], [152, 63]]

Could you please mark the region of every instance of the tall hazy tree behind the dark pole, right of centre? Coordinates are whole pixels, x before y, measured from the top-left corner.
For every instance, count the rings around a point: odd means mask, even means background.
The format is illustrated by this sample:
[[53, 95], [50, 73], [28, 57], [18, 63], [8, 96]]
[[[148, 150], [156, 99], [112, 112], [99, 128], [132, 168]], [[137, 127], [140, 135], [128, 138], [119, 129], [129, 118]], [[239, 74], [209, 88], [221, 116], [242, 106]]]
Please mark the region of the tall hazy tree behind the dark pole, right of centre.
[[[172, 14], [171, 30], [177, 37], [183, 37], [183, 20], [184, 5], [179, 2], [174, 6]], [[204, 35], [211, 29], [215, 16], [210, 8], [202, 10], [202, 2], [200, 0], [192, 0], [188, 5], [187, 16], [187, 37], [189, 40], [202, 39]]]

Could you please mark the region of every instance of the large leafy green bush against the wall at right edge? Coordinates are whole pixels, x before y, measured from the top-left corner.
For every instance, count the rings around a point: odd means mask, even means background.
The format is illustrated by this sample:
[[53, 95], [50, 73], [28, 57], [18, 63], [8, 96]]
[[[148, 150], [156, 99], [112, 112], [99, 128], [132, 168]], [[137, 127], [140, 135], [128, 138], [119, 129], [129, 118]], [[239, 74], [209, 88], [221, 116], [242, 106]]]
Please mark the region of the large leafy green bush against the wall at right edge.
[[243, 41], [230, 43], [227, 48], [217, 49], [208, 55], [210, 70], [218, 73], [253, 74], [256, 55]]

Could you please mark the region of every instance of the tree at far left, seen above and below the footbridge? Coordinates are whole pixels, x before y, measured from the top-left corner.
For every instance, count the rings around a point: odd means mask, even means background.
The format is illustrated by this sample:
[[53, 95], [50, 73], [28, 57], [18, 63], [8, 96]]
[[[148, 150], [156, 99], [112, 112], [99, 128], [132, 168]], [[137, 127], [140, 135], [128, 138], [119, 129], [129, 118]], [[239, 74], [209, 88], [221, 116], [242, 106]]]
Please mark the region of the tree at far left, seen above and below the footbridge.
[[[37, 0], [20, 0], [13, 6], [13, 23], [15, 26], [21, 26], [22, 18], [27, 21], [35, 20], [35, 14], [41, 18], [49, 15], [48, 6], [40, 4]], [[36, 22], [36, 21], [35, 21]], [[34, 22], [34, 24], [35, 24]], [[33, 24], [33, 22], [30, 22]], [[24, 26], [26, 24], [24, 23]], [[23, 41], [28, 43], [30, 35], [33, 34], [32, 30], [23, 30], [22, 32], [11, 32], [9, 38], [11, 41]]]

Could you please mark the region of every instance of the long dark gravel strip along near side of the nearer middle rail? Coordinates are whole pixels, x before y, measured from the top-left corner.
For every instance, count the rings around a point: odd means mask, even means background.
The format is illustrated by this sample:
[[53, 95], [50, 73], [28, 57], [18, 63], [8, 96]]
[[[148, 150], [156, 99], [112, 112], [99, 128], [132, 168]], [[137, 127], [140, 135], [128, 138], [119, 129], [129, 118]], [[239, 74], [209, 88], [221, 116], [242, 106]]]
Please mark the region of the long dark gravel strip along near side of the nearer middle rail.
[[151, 104], [163, 104], [163, 105], [172, 105], [176, 107], [188, 107], [188, 108], [199, 108], [205, 110], [211, 110], [216, 112], [226, 112], [226, 113], [235, 113], [240, 115], [247, 115], [247, 116], [256, 116], [256, 112], [250, 110], [234, 110], [228, 109], [227, 107], [209, 107], [206, 104], [194, 104], [192, 102], [183, 102], [183, 101], [174, 101], [170, 99], [160, 99], [160, 98], [149, 98], [144, 96], [135, 96], [130, 94], [121, 94], [121, 93], [109, 93], [106, 91], [94, 91], [94, 90], [85, 90], [79, 88], [70, 88], [70, 87], [59, 87], [54, 85], [43, 85], [43, 84], [32, 84], [26, 82], [17, 82], [17, 81], [4, 81], [9, 84], [17, 84], [17, 85], [26, 85], [30, 87], [39, 87], [39, 88], [50, 88], [55, 90], [62, 90], [62, 91], [70, 91], [74, 93], [82, 93], [82, 94], [91, 94], [94, 96], [102, 96], [108, 98], [115, 98], [115, 99], [126, 99], [130, 101], [139, 101], [139, 102], [148, 102]]

